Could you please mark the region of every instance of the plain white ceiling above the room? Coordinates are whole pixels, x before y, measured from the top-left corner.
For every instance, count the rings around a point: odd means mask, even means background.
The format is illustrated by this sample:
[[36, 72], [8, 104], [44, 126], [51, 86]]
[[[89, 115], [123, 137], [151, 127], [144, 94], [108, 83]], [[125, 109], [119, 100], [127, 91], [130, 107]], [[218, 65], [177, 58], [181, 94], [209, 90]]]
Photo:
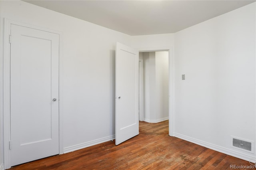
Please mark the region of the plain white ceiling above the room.
[[255, 0], [24, 0], [131, 36], [174, 33]]

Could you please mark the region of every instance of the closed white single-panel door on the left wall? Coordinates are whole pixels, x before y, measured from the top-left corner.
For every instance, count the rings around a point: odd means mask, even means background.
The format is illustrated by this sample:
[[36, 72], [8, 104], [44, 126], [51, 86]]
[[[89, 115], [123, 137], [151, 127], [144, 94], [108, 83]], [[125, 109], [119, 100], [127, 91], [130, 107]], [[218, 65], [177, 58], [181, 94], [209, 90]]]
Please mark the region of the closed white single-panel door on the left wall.
[[11, 25], [11, 166], [59, 153], [59, 35]]

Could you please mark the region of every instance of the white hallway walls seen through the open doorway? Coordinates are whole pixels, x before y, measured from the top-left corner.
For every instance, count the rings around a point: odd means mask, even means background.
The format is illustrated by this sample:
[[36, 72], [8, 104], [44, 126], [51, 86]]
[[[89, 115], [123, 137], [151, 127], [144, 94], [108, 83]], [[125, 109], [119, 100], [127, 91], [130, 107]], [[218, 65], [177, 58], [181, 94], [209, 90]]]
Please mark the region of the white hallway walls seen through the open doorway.
[[169, 120], [169, 50], [139, 52], [139, 121]]

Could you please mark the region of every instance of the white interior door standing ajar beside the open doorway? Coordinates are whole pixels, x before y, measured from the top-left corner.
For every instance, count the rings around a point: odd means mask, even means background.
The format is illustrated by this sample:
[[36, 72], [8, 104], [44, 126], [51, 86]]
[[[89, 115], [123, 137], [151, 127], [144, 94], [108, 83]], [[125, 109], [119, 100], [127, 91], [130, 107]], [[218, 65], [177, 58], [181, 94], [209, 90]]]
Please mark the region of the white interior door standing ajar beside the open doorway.
[[139, 134], [138, 51], [116, 44], [116, 145]]

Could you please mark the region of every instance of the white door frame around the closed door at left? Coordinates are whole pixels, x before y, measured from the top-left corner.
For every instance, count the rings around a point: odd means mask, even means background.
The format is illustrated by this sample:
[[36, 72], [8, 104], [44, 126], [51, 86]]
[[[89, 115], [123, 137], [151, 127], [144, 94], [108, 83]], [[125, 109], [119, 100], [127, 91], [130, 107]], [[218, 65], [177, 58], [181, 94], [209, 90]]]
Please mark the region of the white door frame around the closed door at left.
[[[62, 32], [24, 24], [4, 18], [4, 62], [3, 62], [3, 114], [4, 124], [4, 169], [11, 167], [10, 141], [10, 43], [11, 24], [42, 30], [59, 35], [59, 154], [63, 154], [63, 117], [62, 117]], [[1, 136], [2, 137], [2, 136]]]

